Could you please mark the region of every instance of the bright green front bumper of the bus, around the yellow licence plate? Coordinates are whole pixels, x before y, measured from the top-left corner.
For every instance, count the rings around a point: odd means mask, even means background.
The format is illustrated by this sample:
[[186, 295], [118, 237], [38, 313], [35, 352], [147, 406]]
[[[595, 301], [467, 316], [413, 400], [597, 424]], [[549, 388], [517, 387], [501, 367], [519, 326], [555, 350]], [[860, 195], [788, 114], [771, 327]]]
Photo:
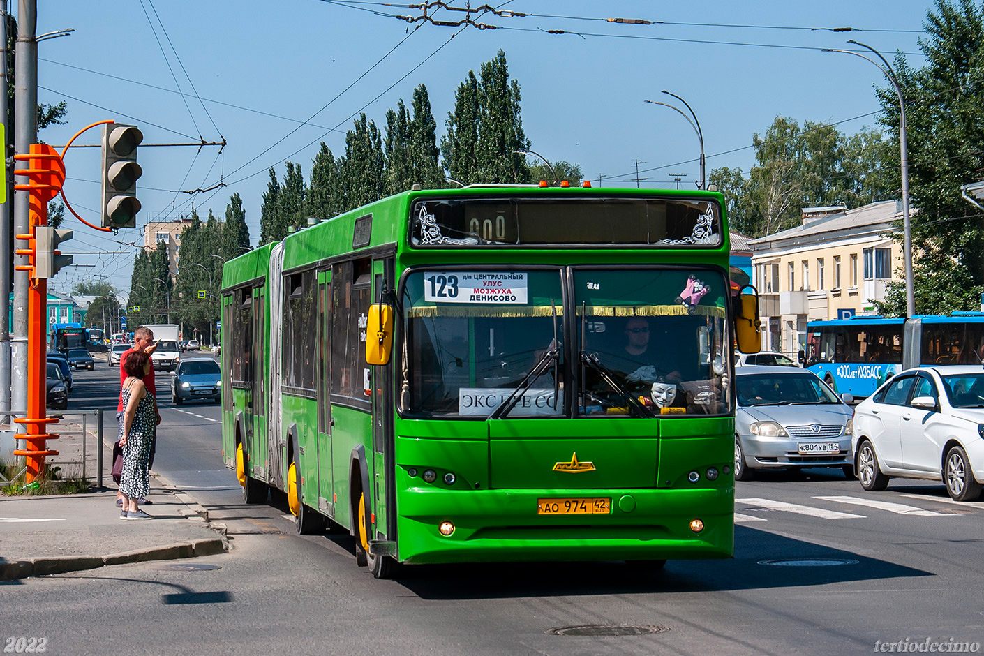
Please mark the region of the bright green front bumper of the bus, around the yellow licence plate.
[[[610, 498], [608, 514], [537, 514], [540, 499]], [[691, 490], [436, 491], [401, 500], [408, 564], [730, 558], [734, 487]], [[490, 508], [494, 510], [490, 511]], [[691, 522], [700, 519], [703, 529]], [[442, 535], [442, 522], [454, 532]]]

